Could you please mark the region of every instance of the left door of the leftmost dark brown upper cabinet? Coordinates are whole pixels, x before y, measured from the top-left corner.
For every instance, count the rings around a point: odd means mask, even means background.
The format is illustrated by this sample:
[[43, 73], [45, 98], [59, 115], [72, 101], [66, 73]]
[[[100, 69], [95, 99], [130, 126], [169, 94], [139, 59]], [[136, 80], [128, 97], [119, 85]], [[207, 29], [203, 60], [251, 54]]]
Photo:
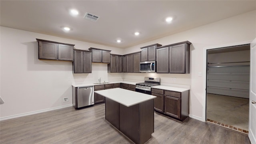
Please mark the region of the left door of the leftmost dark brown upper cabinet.
[[38, 59], [58, 59], [58, 44], [51, 42], [39, 42]]

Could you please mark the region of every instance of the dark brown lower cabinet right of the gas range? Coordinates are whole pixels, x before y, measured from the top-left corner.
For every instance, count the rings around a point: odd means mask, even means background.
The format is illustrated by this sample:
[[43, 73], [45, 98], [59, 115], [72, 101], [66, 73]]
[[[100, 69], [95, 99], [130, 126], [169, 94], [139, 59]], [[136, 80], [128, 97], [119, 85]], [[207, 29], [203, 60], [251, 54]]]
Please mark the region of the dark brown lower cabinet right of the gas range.
[[189, 90], [174, 92], [151, 88], [154, 98], [154, 110], [176, 120], [184, 121], [189, 114]]

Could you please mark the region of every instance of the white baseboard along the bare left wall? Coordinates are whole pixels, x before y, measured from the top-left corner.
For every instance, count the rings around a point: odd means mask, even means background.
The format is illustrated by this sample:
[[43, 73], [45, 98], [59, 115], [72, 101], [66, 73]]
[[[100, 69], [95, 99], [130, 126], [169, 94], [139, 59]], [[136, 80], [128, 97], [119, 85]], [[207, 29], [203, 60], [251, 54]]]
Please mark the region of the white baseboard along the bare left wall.
[[0, 121], [9, 120], [9, 119], [12, 119], [12, 118], [19, 118], [19, 117], [22, 117], [22, 116], [29, 116], [29, 115], [32, 115], [32, 114], [39, 114], [39, 113], [42, 113], [42, 112], [48, 112], [48, 111], [52, 111], [52, 110], [58, 110], [58, 109], [61, 109], [61, 108], [68, 108], [70, 106], [73, 106], [73, 105], [68, 104], [68, 105], [65, 105], [65, 106], [58, 106], [58, 107], [55, 107], [55, 108], [47, 108], [47, 109], [44, 109], [44, 110], [38, 110], [38, 111], [34, 111], [34, 112], [27, 112], [27, 113], [24, 113], [24, 114], [6, 116], [6, 117], [3, 117], [3, 118], [0, 118]]

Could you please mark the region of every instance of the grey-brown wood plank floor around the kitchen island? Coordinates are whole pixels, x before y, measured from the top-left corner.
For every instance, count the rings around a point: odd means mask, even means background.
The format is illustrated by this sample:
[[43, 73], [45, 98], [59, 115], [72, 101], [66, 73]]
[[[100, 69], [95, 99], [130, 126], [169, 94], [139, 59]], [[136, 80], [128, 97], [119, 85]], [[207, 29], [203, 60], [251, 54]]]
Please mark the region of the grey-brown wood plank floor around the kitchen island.
[[[250, 144], [248, 136], [189, 118], [176, 122], [154, 114], [147, 144]], [[105, 104], [73, 107], [0, 122], [1, 144], [132, 144], [105, 120]]]

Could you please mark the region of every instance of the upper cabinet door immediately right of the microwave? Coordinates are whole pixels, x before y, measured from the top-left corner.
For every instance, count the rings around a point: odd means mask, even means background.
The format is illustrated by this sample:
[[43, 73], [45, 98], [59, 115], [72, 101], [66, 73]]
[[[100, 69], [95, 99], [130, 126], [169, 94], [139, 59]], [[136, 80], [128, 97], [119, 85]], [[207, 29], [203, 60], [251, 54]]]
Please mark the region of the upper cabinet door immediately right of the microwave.
[[169, 47], [156, 49], [156, 72], [169, 73]]

